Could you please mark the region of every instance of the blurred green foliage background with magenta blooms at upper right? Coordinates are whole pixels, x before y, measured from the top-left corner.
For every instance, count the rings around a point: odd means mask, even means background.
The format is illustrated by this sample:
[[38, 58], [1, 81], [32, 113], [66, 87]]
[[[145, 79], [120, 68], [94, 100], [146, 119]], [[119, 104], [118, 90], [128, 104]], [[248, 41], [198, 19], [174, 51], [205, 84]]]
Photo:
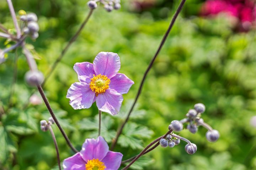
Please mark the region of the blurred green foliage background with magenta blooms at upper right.
[[[16, 12], [34, 12], [39, 18], [39, 38], [27, 39], [39, 69], [46, 74], [89, 8], [86, 0], [13, 0]], [[124, 96], [117, 116], [103, 113], [102, 136], [110, 144], [118, 125], [134, 100], [139, 83], [180, 1], [122, 0], [122, 9], [93, 13], [79, 38], [70, 47], [45, 86], [46, 95], [70, 140], [80, 150], [86, 138], [97, 136], [97, 107], [74, 110], [65, 97], [78, 81], [76, 62], [92, 62], [98, 52], [116, 52], [120, 73], [135, 84]], [[134, 170], [253, 170], [256, 169], [255, 1], [187, 0], [182, 13], [146, 78], [132, 117], [114, 151], [124, 159], [138, 154], [156, 137], [165, 134], [172, 120], [185, 117], [188, 109], [202, 102], [202, 118], [220, 132], [220, 139], [206, 140], [206, 129], [180, 135], [196, 143], [188, 155], [185, 142], [174, 148], [158, 147], [143, 156]], [[0, 0], [0, 22], [14, 28], [5, 0]], [[0, 39], [0, 48], [10, 43]], [[17, 83], [12, 88], [15, 53]], [[0, 118], [0, 169], [57, 169], [50, 133], [39, 121], [50, 114], [41, 100], [24, 105], [33, 91], [24, 81], [28, 65], [21, 49], [8, 53], [0, 65], [0, 104], [7, 110]], [[13, 94], [10, 98], [10, 94]], [[38, 96], [38, 97], [37, 97]], [[34, 99], [40, 99], [37, 94]], [[9, 104], [11, 101], [11, 104]], [[36, 102], [35, 102], [36, 101]], [[255, 121], [255, 120], [254, 120]], [[73, 153], [56, 125], [61, 160]]]

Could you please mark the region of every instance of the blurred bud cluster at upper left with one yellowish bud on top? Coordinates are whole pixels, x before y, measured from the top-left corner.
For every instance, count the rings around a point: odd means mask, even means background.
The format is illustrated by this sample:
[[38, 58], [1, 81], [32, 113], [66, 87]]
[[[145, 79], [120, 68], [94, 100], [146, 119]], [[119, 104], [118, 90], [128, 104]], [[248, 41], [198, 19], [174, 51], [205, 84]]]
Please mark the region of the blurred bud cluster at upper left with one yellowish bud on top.
[[23, 33], [30, 35], [32, 39], [37, 39], [39, 34], [39, 26], [37, 23], [37, 15], [34, 13], [26, 14], [25, 11], [20, 10], [20, 20], [24, 22], [24, 27], [22, 29]]

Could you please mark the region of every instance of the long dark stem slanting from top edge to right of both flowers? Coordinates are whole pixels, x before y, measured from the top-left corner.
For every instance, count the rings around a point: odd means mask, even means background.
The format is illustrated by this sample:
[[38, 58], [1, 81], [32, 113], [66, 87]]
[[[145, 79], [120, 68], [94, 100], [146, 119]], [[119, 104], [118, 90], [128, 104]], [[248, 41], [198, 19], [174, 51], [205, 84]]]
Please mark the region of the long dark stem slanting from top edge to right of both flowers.
[[145, 71], [145, 73], [144, 73], [144, 76], [143, 76], [143, 78], [142, 78], [142, 81], [140, 82], [139, 90], [138, 90], [138, 92], [137, 92], [137, 95], [136, 95], [136, 97], [135, 97], [135, 100], [134, 100], [134, 102], [133, 102], [133, 105], [132, 105], [132, 107], [130, 108], [130, 111], [129, 111], [127, 117], [126, 117], [126, 120], [122, 123], [121, 127], [120, 127], [119, 130], [117, 131], [116, 137], [113, 139], [113, 142], [112, 142], [112, 145], [111, 145], [111, 150], [113, 150], [114, 147], [116, 146], [118, 137], [121, 135], [122, 130], [123, 130], [123, 128], [124, 128], [124, 125], [125, 125], [125, 124], [127, 123], [127, 121], [129, 120], [130, 114], [132, 113], [133, 108], [134, 108], [134, 106], [135, 106], [135, 104], [136, 104], [136, 102], [137, 102], [137, 100], [138, 100], [138, 98], [139, 98], [139, 96], [140, 96], [141, 91], [142, 91], [142, 87], [143, 87], [144, 81], [145, 81], [145, 79], [146, 79], [146, 76], [148, 75], [148, 72], [149, 72], [149, 70], [151, 69], [151, 67], [153, 66], [153, 63], [154, 63], [156, 57], [158, 56], [159, 52], [161, 51], [162, 46], [164, 45], [165, 40], [167, 39], [167, 37], [168, 37], [168, 35], [169, 35], [169, 33], [170, 33], [171, 29], [172, 29], [172, 26], [174, 25], [174, 22], [175, 22], [175, 20], [176, 20], [176, 18], [177, 18], [177, 16], [178, 16], [178, 14], [180, 13], [180, 11], [181, 11], [181, 9], [182, 9], [182, 7], [183, 7], [185, 1], [186, 1], [186, 0], [182, 0], [181, 3], [180, 3], [180, 5], [178, 6], [178, 8], [177, 8], [177, 10], [176, 10], [176, 12], [175, 12], [175, 14], [174, 14], [174, 17], [173, 17], [172, 20], [171, 20], [170, 26], [169, 26], [169, 28], [167, 29], [167, 31], [166, 31], [164, 37], [162, 38], [162, 41], [161, 41], [161, 43], [160, 43], [160, 45], [159, 45], [159, 47], [158, 47], [158, 50], [156, 51], [154, 57], [152, 58], [151, 62], [149, 63], [148, 68], [146, 69], [146, 71]]

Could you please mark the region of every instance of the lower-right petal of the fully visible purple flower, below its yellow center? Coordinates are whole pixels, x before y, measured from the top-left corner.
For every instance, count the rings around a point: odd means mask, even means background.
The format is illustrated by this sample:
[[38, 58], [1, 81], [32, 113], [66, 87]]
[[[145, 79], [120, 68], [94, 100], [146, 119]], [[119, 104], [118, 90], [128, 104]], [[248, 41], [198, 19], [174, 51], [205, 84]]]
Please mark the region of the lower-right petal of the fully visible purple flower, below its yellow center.
[[107, 89], [96, 97], [96, 104], [100, 111], [115, 115], [119, 112], [123, 96], [116, 90]]

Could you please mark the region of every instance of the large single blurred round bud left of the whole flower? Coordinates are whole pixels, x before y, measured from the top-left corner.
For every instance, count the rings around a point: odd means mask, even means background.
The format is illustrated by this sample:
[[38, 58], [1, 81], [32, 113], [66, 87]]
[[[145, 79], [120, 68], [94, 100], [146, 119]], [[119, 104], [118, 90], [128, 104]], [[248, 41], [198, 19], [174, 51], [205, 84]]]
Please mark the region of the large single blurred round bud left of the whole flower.
[[28, 71], [25, 74], [25, 79], [27, 83], [31, 86], [37, 86], [43, 83], [43, 74], [39, 71]]

